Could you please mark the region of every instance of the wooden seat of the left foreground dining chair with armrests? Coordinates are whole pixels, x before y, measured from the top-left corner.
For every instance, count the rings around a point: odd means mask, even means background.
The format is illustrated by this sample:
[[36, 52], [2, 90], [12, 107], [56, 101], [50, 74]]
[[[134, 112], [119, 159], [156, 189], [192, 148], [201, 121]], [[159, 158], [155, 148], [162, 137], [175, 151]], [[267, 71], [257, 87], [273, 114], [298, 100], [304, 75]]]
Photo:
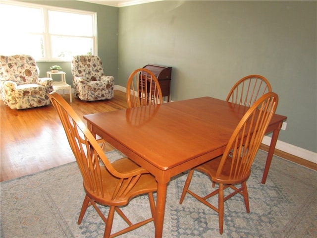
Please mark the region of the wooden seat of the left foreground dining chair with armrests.
[[[119, 159], [111, 163], [113, 168], [119, 173], [130, 173], [132, 170], [139, 169], [140, 167], [128, 158]], [[102, 181], [104, 189], [104, 197], [101, 194], [96, 194], [94, 190], [89, 189], [89, 187], [84, 183], [84, 188], [86, 193], [89, 194], [91, 198], [102, 205], [106, 206], [123, 206], [129, 203], [130, 199], [141, 195], [144, 193], [155, 192], [158, 189], [157, 182], [151, 174], [142, 175], [137, 181], [134, 187], [129, 191], [128, 195], [123, 198], [113, 199], [113, 193], [120, 182], [120, 179], [113, 177], [107, 170], [106, 167], [101, 167], [102, 170]]]

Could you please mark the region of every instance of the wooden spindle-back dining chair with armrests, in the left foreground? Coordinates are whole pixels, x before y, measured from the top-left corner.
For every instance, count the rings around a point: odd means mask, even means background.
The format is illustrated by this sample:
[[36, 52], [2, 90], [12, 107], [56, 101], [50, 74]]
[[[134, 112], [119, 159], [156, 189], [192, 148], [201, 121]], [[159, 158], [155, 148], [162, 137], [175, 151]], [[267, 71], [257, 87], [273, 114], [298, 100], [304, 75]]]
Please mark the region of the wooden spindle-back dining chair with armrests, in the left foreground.
[[[78, 224], [82, 222], [89, 205], [93, 205], [106, 224], [104, 238], [116, 237], [155, 221], [156, 206], [153, 192], [158, 189], [155, 178], [129, 158], [122, 158], [110, 163], [93, 134], [67, 102], [56, 92], [52, 92], [49, 97], [57, 110], [83, 176], [86, 196], [80, 211]], [[132, 224], [119, 206], [125, 206], [132, 198], [146, 193], [149, 195], [152, 217]], [[107, 218], [96, 203], [110, 207]], [[114, 211], [122, 217], [128, 226], [122, 231], [110, 235]]]

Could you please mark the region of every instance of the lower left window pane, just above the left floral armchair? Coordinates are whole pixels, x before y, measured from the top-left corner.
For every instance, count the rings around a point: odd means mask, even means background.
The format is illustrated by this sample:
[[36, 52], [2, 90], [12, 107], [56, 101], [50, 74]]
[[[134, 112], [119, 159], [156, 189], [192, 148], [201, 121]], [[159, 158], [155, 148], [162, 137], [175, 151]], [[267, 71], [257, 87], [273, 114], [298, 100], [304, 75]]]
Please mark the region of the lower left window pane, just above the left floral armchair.
[[43, 36], [34, 34], [25, 34], [23, 37], [19, 34], [12, 34], [6, 37], [0, 37], [1, 55], [31, 55], [34, 58], [43, 58], [44, 45]]

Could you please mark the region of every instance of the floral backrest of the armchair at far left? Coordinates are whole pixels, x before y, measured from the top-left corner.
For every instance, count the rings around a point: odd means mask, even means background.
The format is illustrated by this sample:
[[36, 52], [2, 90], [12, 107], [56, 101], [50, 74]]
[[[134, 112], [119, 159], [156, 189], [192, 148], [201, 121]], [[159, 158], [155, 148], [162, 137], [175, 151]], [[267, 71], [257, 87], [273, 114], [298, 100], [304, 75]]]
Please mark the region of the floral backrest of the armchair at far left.
[[39, 78], [39, 72], [32, 56], [0, 56], [0, 77], [18, 85], [32, 84]]

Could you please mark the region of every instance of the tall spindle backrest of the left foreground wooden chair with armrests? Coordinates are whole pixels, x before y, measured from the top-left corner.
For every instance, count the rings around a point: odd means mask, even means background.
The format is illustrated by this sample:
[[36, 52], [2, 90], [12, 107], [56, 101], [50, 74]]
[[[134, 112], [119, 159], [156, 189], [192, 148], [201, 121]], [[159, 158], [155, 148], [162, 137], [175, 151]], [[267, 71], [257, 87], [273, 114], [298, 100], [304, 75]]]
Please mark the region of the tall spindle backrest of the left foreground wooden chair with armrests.
[[94, 191], [96, 196], [104, 197], [103, 183], [107, 181], [101, 179], [100, 160], [110, 174], [116, 178], [121, 178], [121, 174], [112, 167], [93, 134], [69, 104], [56, 92], [50, 93], [49, 97], [64, 127], [85, 186]]

